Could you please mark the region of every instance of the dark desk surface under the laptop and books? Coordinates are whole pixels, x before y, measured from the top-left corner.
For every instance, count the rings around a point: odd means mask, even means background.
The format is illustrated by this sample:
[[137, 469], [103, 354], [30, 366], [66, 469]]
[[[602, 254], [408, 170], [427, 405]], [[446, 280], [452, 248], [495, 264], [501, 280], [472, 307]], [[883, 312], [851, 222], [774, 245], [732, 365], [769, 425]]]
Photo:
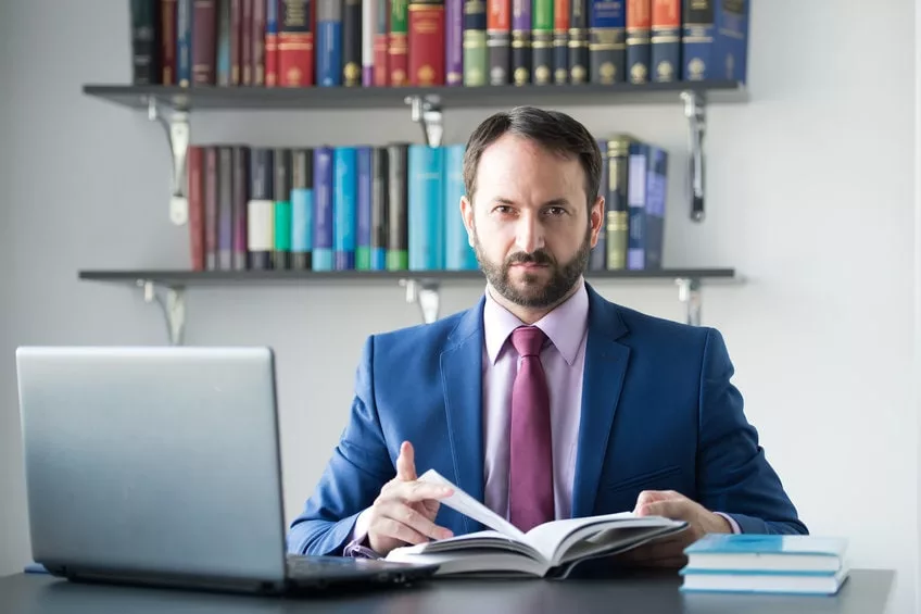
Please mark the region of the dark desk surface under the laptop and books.
[[668, 575], [567, 581], [438, 579], [363, 594], [282, 599], [79, 585], [18, 574], [0, 578], [0, 609], [4, 614], [882, 614], [893, 577], [890, 571], [857, 569], [834, 597], [682, 593], [678, 576]]

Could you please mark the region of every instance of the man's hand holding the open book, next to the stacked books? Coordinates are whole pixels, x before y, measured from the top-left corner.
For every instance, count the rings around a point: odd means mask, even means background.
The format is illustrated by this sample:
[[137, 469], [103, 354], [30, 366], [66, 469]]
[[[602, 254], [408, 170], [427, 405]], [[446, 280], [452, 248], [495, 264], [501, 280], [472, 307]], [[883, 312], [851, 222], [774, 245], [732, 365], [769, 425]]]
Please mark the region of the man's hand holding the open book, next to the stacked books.
[[708, 532], [732, 532], [732, 526], [724, 517], [673, 490], [644, 490], [636, 498], [633, 513], [686, 521], [687, 528], [618, 554], [614, 557], [618, 565], [680, 568], [687, 563], [684, 554], [687, 546]]

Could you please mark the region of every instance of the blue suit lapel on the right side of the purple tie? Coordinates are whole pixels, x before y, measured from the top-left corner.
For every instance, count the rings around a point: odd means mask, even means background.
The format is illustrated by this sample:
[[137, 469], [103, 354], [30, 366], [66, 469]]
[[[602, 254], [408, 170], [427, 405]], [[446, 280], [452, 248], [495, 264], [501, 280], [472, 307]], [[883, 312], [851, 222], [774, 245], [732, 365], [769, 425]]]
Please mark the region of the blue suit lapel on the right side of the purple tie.
[[620, 398], [630, 349], [617, 342], [627, 333], [617, 309], [588, 284], [589, 338], [582, 377], [582, 410], [576, 476], [572, 485], [572, 516], [594, 513], [598, 480], [605, 463], [614, 414]]

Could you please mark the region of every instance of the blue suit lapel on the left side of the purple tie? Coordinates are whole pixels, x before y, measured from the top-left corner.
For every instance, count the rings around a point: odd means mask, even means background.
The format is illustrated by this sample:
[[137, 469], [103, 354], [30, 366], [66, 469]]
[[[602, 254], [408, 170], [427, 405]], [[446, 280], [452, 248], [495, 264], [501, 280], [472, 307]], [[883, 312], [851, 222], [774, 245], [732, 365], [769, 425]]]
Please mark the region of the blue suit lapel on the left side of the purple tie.
[[[462, 317], [441, 354], [454, 483], [480, 502], [483, 501], [483, 303], [481, 299], [478, 308], [469, 310]], [[467, 531], [482, 528], [467, 516], [463, 516], [463, 519]]]

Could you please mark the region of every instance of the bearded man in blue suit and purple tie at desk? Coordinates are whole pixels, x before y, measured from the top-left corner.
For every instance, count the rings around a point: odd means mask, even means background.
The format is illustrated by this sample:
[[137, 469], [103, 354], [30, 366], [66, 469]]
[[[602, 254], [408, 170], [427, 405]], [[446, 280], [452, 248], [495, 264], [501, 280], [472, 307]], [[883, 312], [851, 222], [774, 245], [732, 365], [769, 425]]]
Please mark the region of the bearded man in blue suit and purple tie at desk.
[[471, 310], [371, 336], [352, 412], [289, 549], [386, 555], [480, 530], [417, 481], [433, 467], [528, 530], [622, 511], [689, 522], [634, 563], [680, 566], [707, 532], [806, 532], [765, 459], [719, 333], [616, 305], [582, 278], [603, 163], [571, 117], [480, 125], [460, 202], [487, 277]]

